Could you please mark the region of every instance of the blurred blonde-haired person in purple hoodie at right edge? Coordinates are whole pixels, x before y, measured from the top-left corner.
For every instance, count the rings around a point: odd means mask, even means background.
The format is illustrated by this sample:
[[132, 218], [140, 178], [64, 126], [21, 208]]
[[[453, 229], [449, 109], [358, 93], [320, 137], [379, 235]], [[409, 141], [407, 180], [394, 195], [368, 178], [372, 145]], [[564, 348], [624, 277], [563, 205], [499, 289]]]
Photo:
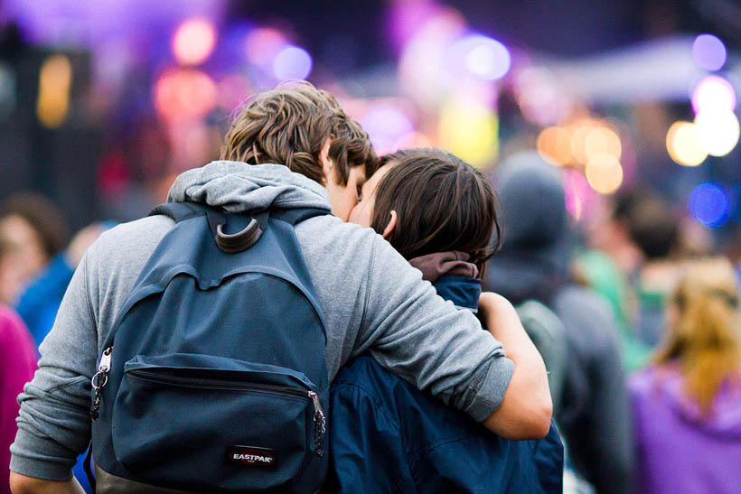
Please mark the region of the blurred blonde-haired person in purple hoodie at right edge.
[[691, 261], [671, 297], [668, 335], [630, 380], [636, 488], [737, 492], [741, 486], [741, 317], [726, 258]]

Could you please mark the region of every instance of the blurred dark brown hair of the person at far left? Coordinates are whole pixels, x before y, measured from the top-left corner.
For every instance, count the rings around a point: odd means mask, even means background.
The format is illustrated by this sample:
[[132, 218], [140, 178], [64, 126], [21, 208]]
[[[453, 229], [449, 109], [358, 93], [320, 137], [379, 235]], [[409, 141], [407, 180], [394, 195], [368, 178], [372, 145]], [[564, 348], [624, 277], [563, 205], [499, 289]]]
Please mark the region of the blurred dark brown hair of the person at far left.
[[61, 210], [42, 194], [23, 191], [10, 196], [0, 206], [0, 219], [9, 216], [18, 216], [31, 225], [49, 257], [67, 248], [70, 242], [70, 229]]

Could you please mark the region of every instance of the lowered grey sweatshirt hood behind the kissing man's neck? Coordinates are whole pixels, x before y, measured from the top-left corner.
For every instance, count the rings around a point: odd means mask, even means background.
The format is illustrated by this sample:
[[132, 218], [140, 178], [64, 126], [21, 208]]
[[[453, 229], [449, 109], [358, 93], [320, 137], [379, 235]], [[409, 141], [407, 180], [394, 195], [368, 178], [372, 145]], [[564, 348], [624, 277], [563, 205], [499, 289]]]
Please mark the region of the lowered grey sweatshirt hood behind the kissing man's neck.
[[168, 202], [201, 202], [240, 213], [315, 208], [331, 211], [324, 187], [282, 164], [211, 162], [180, 174], [167, 195]]

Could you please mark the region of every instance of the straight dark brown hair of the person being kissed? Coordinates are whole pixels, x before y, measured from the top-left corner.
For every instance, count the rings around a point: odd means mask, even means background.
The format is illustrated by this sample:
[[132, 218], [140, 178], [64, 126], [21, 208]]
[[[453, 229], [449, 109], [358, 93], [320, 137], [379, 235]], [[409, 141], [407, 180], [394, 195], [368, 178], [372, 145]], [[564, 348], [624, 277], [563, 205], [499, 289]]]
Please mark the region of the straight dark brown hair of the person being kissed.
[[[405, 149], [380, 158], [393, 167], [380, 180], [371, 228], [378, 232], [396, 210], [387, 240], [411, 259], [458, 250], [483, 270], [500, 247], [502, 230], [492, 183], [482, 172], [439, 149]], [[496, 228], [496, 244], [492, 231]]]

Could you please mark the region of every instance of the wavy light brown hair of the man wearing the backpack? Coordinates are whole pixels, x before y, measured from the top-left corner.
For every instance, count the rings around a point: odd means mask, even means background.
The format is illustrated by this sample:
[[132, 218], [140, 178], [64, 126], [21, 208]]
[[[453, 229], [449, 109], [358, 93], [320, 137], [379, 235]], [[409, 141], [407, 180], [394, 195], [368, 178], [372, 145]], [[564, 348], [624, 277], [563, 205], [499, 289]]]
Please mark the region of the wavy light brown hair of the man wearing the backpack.
[[324, 184], [319, 154], [330, 136], [339, 183], [347, 184], [351, 166], [365, 165], [368, 176], [375, 171], [377, 157], [361, 125], [327, 91], [292, 81], [249, 100], [224, 137], [220, 159], [285, 164]]

